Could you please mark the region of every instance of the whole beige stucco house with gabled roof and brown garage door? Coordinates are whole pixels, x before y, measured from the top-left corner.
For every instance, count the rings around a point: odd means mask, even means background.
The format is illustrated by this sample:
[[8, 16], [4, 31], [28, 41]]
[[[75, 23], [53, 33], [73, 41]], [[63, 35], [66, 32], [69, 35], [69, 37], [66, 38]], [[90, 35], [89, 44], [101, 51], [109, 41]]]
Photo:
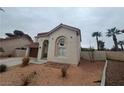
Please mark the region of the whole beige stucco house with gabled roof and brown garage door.
[[49, 32], [39, 33], [36, 43], [28, 46], [26, 55], [38, 61], [78, 64], [81, 51], [80, 29], [60, 24]]

